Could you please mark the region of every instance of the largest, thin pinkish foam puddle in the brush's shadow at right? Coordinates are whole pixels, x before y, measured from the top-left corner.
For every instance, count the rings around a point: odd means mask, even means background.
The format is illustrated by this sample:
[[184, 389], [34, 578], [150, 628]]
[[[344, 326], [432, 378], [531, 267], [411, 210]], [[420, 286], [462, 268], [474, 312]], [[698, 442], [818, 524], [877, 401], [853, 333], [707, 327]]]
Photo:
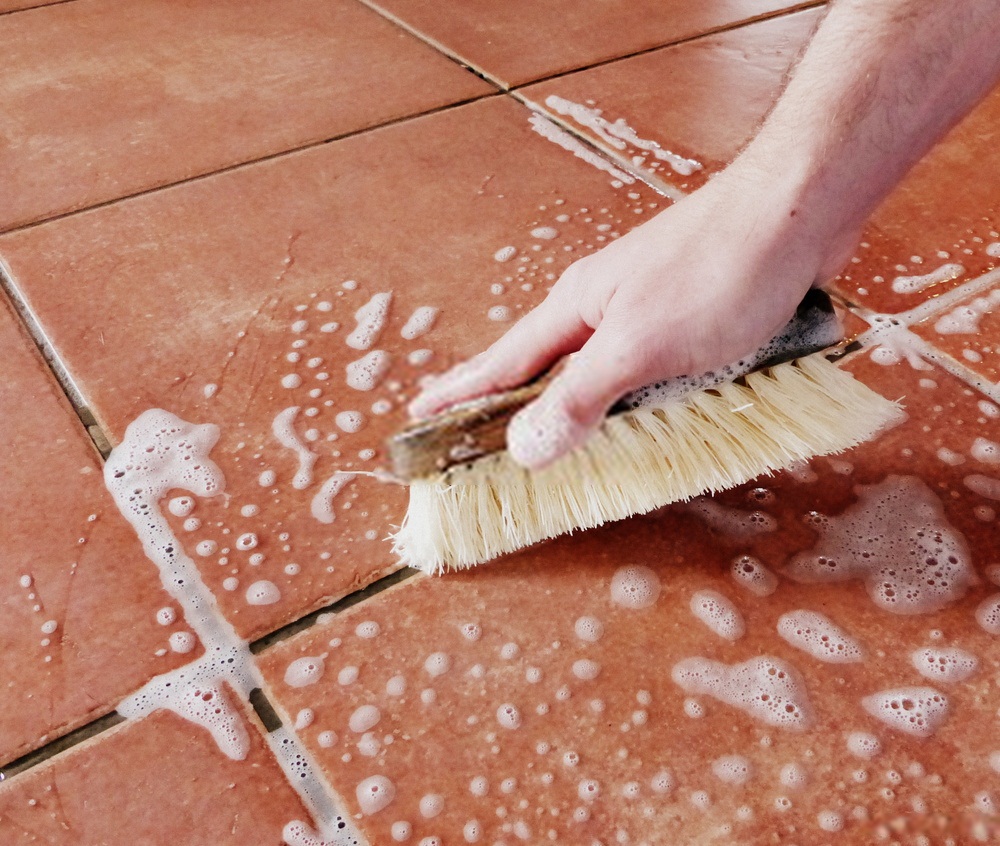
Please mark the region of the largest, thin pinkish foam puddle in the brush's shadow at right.
[[812, 515], [816, 546], [786, 572], [801, 582], [862, 579], [872, 601], [896, 614], [938, 611], [976, 583], [965, 538], [920, 479], [888, 476], [856, 488], [836, 517]]

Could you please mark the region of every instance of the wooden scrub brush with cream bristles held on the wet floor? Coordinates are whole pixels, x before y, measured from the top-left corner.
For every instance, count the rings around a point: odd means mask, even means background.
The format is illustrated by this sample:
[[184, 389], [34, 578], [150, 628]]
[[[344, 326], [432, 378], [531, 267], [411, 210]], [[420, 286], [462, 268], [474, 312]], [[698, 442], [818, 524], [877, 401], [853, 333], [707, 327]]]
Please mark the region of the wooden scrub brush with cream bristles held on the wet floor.
[[842, 337], [829, 296], [813, 289], [756, 353], [629, 394], [542, 470], [504, 450], [507, 423], [544, 383], [415, 423], [388, 444], [410, 484], [393, 551], [428, 573], [471, 567], [868, 440], [903, 412], [824, 355]]

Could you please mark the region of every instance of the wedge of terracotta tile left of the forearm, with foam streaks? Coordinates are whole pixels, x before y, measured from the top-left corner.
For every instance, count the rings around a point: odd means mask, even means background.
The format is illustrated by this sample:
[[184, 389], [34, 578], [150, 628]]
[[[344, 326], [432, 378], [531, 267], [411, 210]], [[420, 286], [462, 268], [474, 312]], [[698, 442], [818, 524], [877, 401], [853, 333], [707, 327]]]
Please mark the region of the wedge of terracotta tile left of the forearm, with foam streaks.
[[625, 160], [641, 156], [634, 160], [638, 166], [679, 188], [694, 189], [753, 137], [822, 16], [823, 9], [783, 15], [545, 80], [521, 93], [553, 114], [560, 109], [556, 102], [546, 105], [550, 97], [600, 109], [608, 121], [624, 119], [640, 138], [693, 158], [703, 169], [677, 173], [648, 151], [633, 144], [611, 146], [572, 115], [563, 115], [609, 153]]

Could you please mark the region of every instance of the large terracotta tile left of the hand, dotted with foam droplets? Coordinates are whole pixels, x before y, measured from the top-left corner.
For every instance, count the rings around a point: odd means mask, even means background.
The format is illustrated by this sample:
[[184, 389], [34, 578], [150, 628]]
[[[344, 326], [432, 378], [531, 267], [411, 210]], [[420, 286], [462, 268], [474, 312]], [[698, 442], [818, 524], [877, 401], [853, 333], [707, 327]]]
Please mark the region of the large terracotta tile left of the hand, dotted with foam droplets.
[[[534, 133], [529, 116], [511, 100], [483, 101], [0, 239], [116, 440], [150, 407], [221, 426], [212, 458], [227, 495], [170, 519], [189, 552], [207, 542], [193, 557], [241, 636], [397, 566], [384, 538], [403, 491], [359, 478], [327, 524], [312, 515], [321, 483], [382, 464], [421, 373], [482, 349], [573, 258], [663, 205], [645, 187], [613, 188], [611, 174]], [[512, 258], [498, 261], [505, 247]], [[354, 314], [387, 291], [376, 346], [391, 366], [374, 390], [354, 390], [345, 366], [367, 355], [346, 343]], [[406, 340], [421, 306], [440, 316]], [[338, 423], [351, 411], [364, 416], [356, 433], [349, 416]], [[273, 434], [282, 412], [319, 455], [304, 489], [295, 453]], [[262, 487], [267, 471], [276, 481]], [[253, 549], [237, 542], [247, 533]], [[248, 604], [262, 580], [280, 601]]]

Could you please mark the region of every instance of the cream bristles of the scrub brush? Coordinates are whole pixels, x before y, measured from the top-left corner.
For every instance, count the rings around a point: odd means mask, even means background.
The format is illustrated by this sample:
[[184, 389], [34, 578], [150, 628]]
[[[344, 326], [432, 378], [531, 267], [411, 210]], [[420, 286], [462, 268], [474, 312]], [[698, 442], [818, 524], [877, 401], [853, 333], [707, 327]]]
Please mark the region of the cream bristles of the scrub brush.
[[611, 416], [541, 471], [501, 452], [415, 481], [393, 551], [428, 573], [471, 567], [841, 452], [902, 416], [822, 354], [745, 381]]

